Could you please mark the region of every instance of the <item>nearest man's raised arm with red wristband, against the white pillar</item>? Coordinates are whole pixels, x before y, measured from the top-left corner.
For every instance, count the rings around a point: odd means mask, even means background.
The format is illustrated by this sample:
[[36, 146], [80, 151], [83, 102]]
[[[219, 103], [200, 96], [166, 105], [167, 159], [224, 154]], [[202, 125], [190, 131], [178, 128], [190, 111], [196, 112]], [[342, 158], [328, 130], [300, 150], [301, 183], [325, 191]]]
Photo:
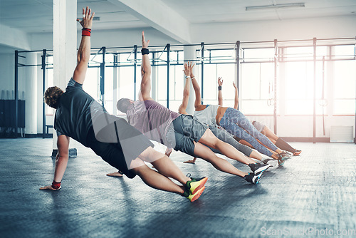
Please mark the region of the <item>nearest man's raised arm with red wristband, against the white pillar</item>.
[[90, 32], [93, 25], [93, 13], [91, 16], [91, 9], [87, 6], [83, 8], [83, 20], [77, 19], [82, 29], [82, 40], [78, 49], [78, 64], [73, 73], [73, 79], [75, 82], [83, 84], [85, 80], [85, 73], [87, 72], [88, 62], [90, 58]]

